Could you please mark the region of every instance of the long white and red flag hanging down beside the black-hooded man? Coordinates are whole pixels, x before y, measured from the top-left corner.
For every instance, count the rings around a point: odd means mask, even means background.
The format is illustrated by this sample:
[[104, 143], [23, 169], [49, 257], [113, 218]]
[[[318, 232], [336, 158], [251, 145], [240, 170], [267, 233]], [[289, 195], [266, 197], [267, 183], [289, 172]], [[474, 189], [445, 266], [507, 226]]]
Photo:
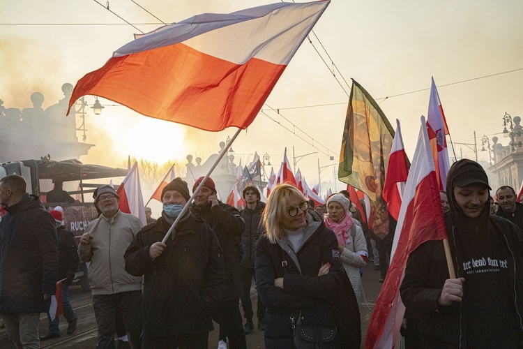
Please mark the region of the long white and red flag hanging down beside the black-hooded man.
[[421, 119], [418, 144], [397, 220], [391, 265], [370, 318], [365, 348], [393, 348], [405, 311], [400, 285], [407, 259], [420, 244], [447, 238], [425, 117]]

